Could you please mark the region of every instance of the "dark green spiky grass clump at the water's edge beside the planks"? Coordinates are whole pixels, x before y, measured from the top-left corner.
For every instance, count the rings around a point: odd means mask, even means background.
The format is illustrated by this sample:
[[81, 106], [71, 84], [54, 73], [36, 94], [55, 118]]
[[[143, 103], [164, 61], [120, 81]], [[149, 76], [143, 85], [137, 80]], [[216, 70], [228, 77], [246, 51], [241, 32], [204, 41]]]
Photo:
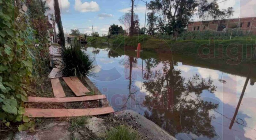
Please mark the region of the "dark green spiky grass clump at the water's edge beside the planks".
[[93, 75], [93, 59], [81, 50], [80, 43], [72, 43], [62, 49], [61, 61], [63, 76], [91, 76]]

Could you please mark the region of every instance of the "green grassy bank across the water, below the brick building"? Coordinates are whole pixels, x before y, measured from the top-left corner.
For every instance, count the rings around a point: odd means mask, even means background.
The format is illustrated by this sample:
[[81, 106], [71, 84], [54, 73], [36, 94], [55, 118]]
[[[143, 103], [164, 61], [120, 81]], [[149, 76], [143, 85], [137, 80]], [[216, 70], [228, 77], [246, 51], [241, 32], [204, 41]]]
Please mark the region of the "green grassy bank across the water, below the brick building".
[[[255, 63], [253, 54], [255, 48], [253, 44], [256, 42], [256, 36], [233, 37], [231, 40], [214, 39], [210, 40], [160, 40], [151, 37], [118, 37], [113, 41], [114, 46], [129, 46], [136, 48], [138, 43], [142, 44], [142, 48], [147, 51], [172, 53], [177, 55], [205, 57], [212, 59], [223, 59], [245, 63]], [[238, 47], [238, 45], [240, 45]], [[247, 48], [246, 48], [247, 45]], [[219, 46], [219, 51], [218, 51]], [[223, 47], [223, 48], [222, 48]], [[246, 51], [249, 50], [250, 51]], [[247, 55], [251, 53], [252, 56]], [[221, 55], [223, 54], [223, 55]], [[251, 58], [248, 58], [251, 57]]]

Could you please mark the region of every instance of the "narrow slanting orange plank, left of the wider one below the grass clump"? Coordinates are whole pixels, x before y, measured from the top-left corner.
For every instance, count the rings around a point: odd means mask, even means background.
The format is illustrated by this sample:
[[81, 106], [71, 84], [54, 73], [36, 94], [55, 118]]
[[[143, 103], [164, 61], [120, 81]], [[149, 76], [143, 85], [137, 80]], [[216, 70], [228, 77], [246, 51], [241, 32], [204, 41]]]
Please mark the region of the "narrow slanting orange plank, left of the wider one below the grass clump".
[[66, 97], [59, 78], [51, 79], [54, 97]]

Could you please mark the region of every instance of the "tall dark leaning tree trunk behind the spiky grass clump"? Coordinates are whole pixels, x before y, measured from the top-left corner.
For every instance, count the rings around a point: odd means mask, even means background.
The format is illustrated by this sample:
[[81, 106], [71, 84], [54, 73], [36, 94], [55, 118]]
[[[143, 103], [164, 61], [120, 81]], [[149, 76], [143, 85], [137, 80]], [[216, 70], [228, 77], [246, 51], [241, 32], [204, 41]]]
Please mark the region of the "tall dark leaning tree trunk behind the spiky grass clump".
[[59, 7], [58, 0], [54, 0], [54, 12], [55, 12], [55, 20], [59, 29], [59, 36], [60, 36], [59, 44], [62, 47], [65, 47], [65, 36], [64, 36], [64, 31], [63, 31], [62, 22], [61, 22], [60, 7]]

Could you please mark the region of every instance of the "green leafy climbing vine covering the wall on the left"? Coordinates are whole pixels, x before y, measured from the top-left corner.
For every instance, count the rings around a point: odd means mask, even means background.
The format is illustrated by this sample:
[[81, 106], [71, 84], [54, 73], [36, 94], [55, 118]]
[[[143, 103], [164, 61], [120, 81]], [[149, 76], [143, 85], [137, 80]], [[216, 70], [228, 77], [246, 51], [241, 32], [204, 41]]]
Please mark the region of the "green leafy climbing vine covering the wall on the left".
[[[38, 69], [35, 64], [47, 67], [47, 25], [44, 12], [31, 21], [29, 14], [22, 11], [23, 5], [24, 1], [0, 0], [0, 125], [10, 128], [15, 122], [23, 122], [19, 131], [34, 131], [35, 123], [24, 115], [23, 102]], [[44, 63], [38, 63], [42, 59]]]

